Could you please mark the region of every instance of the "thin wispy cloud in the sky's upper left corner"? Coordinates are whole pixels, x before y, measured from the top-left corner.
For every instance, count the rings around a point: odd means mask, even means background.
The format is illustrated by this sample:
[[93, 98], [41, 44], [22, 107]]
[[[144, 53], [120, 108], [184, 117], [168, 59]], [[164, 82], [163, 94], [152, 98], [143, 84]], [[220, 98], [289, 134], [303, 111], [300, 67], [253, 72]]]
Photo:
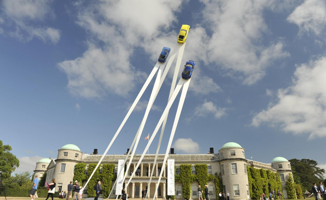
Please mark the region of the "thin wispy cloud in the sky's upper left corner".
[[[11, 37], [20, 41], [30, 41], [34, 37], [42, 40], [44, 43], [50, 41], [58, 43], [61, 33], [58, 29], [47, 26], [34, 26], [31, 22], [41, 22], [47, 17], [53, 18], [55, 15], [51, 11], [52, 1], [35, 1], [35, 0], [4, 0], [2, 2], [3, 17], [7, 19], [7, 26], [15, 24], [16, 30], [8, 32]], [[4, 21], [1, 18], [0, 23]], [[2, 31], [4, 32], [4, 31]]]

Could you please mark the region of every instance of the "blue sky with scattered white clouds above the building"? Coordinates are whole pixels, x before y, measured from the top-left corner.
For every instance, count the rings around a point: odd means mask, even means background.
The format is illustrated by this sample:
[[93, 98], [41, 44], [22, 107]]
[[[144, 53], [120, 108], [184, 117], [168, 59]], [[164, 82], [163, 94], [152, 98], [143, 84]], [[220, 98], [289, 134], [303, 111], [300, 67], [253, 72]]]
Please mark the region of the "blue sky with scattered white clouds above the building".
[[[320, 157], [326, 136], [324, 1], [4, 0], [0, 139], [21, 161], [16, 172], [56, 158], [68, 143], [102, 154], [161, 48], [175, 46], [182, 24], [190, 25], [182, 64], [194, 60], [196, 68], [173, 142], [176, 153], [218, 152], [233, 141], [247, 159], [308, 158], [326, 168]], [[167, 105], [170, 71], [137, 154]], [[108, 154], [129, 148], [152, 85]]]

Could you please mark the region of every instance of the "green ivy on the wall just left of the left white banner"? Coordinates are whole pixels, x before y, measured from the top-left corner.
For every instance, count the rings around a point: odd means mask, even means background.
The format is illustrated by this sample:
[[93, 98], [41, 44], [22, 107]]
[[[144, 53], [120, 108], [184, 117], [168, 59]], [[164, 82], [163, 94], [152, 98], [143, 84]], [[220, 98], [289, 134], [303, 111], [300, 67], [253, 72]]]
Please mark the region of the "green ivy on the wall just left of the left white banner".
[[104, 198], [107, 198], [111, 192], [112, 181], [116, 179], [114, 175], [115, 165], [114, 164], [104, 164], [102, 166], [102, 173], [100, 178], [102, 180], [102, 194]]

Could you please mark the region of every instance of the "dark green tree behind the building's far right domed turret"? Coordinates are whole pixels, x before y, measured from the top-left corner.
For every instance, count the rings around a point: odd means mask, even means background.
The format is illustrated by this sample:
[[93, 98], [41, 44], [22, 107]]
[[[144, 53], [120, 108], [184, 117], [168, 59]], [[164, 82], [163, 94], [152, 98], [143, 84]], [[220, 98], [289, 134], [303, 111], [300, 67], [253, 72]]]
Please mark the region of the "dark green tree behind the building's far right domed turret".
[[293, 178], [296, 183], [301, 182], [302, 191], [308, 190], [311, 192], [311, 184], [317, 183], [324, 179], [324, 169], [317, 167], [318, 163], [310, 159], [291, 159], [291, 167]]

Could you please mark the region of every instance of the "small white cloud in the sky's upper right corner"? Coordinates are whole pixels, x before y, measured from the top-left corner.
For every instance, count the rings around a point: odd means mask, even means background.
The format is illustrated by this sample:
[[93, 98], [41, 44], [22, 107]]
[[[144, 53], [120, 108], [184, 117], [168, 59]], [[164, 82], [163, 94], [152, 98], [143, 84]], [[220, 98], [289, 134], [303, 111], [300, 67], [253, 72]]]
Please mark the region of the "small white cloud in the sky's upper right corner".
[[289, 15], [287, 20], [299, 26], [300, 32], [316, 35], [326, 28], [326, 2], [324, 0], [305, 0]]

